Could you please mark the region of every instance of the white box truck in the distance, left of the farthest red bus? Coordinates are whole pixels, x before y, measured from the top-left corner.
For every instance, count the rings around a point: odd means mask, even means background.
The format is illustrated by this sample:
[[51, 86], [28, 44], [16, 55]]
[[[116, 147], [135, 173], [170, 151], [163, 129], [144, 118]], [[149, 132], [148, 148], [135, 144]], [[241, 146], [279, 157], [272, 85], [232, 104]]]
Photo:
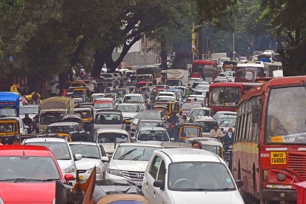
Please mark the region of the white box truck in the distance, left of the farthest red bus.
[[188, 84], [188, 70], [167, 70], [165, 84], [169, 87]]

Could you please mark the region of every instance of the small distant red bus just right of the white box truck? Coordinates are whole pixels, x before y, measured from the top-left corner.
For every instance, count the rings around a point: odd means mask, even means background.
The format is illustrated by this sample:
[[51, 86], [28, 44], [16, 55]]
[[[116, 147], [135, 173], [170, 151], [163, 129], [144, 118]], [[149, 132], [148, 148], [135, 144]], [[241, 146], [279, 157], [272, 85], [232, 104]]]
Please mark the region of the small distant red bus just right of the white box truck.
[[216, 61], [209, 59], [198, 59], [192, 62], [191, 77], [193, 78], [202, 77], [203, 70], [214, 71], [212, 72], [212, 74], [209, 74], [212, 76], [207, 76], [211, 80], [203, 78], [204, 81], [213, 81], [218, 76]]

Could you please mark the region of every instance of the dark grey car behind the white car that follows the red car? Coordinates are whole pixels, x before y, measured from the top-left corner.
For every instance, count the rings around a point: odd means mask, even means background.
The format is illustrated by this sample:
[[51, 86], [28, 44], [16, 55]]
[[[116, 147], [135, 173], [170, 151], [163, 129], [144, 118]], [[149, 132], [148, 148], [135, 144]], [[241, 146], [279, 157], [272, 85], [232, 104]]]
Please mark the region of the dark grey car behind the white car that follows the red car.
[[74, 132], [83, 131], [82, 126], [77, 122], [59, 122], [47, 126], [44, 133]]

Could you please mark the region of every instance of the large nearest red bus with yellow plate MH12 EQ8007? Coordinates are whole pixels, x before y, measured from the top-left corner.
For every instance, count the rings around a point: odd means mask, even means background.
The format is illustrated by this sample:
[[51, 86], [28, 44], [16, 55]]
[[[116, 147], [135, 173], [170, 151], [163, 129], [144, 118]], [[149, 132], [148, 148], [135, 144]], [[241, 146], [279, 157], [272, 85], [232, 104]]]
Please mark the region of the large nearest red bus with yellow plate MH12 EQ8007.
[[306, 180], [306, 76], [274, 78], [238, 105], [233, 176], [245, 203], [296, 203]]

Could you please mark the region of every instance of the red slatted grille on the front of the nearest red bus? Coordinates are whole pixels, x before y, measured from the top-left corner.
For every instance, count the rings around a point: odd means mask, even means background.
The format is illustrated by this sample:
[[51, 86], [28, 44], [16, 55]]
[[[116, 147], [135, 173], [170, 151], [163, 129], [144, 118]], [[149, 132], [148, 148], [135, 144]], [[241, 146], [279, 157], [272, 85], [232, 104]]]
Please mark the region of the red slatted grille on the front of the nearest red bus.
[[304, 152], [289, 152], [289, 168], [306, 178], [306, 155]]

